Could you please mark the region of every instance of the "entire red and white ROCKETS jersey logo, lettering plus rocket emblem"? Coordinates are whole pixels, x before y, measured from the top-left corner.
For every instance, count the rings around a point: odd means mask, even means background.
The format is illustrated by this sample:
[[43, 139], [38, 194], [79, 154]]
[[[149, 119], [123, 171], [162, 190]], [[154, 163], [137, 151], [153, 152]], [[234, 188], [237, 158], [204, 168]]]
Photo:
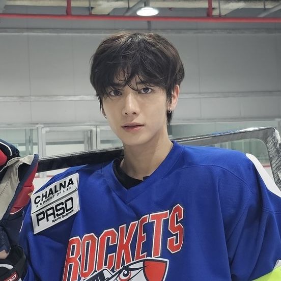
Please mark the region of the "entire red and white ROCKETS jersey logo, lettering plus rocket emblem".
[[[183, 212], [177, 204], [172, 210], [144, 215], [118, 229], [106, 229], [99, 236], [89, 233], [72, 237], [62, 280], [165, 280], [168, 263], [161, 259], [162, 253], [171, 255], [181, 250]], [[148, 273], [153, 266], [159, 268], [155, 276]]]

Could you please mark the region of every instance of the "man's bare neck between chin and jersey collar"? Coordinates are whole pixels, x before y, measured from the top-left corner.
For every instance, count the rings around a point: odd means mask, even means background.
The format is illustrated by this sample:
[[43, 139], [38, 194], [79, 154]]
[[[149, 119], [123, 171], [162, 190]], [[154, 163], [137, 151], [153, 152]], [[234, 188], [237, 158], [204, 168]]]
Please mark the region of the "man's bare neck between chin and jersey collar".
[[168, 139], [159, 138], [149, 144], [139, 146], [124, 145], [124, 159], [121, 162], [122, 170], [130, 177], [143, 180], [150, 176], [166, 158], [173, 147]]

